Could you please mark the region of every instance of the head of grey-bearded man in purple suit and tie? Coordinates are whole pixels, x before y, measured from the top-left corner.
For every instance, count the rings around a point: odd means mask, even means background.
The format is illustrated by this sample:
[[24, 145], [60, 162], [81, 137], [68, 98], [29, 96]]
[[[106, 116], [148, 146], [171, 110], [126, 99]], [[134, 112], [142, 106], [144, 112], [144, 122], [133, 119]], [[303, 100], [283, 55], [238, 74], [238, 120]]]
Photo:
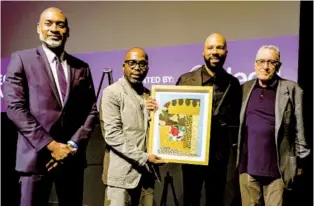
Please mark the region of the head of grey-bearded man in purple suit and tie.
[[40, 41], [54, 52], [61, 53], [67, 38], [69, 27], [66, 16], [55, 7], [45, 9], [37, 24], [37, 33]]

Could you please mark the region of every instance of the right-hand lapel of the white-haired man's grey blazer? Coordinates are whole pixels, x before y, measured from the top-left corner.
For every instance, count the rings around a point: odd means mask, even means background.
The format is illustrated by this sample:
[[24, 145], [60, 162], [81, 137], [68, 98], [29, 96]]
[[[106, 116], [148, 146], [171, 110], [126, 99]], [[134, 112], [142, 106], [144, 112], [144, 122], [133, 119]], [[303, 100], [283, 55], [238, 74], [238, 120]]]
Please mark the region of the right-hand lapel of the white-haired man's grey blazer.
[[278, 139], [278, 132], [282, 123], [283, 113], [289, 100], [289, 90], [284, 84], [284, 81], [279, 79], [278, 88], [276, 92], [276, 103], [275, 103], [275, 138], [276, 143]]

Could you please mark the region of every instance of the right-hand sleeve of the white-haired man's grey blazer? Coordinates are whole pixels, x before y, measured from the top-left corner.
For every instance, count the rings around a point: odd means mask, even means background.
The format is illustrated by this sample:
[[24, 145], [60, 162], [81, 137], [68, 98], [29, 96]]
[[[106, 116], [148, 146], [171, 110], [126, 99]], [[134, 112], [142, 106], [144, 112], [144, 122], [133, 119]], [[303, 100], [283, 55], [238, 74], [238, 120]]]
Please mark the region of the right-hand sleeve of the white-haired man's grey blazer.
[[296, 118], [296, 155], [303, 159], [310, 153], [304, 136], [304, 117], [303, 117], [303, 90], [297, 86], [295, 89], [295, 118]]

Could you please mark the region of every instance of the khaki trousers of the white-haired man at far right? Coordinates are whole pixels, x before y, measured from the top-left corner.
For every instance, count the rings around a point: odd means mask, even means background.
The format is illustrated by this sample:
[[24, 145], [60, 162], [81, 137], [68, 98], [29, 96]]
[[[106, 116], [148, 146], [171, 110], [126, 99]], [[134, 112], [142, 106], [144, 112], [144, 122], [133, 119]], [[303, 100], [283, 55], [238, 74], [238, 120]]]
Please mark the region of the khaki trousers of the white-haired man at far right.
[[[242, 206], [282, 206], [285, 185], [281, 178], [240, 174]], [[263, 200], [262, 200], [263, 198]]]

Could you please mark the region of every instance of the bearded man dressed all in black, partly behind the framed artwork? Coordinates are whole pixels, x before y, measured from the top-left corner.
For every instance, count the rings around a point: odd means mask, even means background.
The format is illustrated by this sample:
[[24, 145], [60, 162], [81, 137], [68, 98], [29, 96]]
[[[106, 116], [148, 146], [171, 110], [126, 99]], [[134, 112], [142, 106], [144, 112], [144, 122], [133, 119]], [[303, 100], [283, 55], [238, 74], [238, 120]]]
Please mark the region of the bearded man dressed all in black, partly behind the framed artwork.
[[[182, 165], [185, 206], [200, 205], [203, 182], [205, 182], [206, 205], [224, 205], [227, 173], [236, 174], [234, 169], [227, 171], [227, 168], [230, 151], [232, 151], [231, 155], [235, 155], [236, 152], [241, 87], [239, 80], [223, 68], [227, 53], [225, 38], [218, 33], [211, 34], [204, 44], [205, 64], [193, 72], [181, 75], [177, 82], [177, 85], [214, 88], [212, 121], [211, 125], [208, 125], [211, 126], [209, 164], [208, 166]], [[237, 181], [237, 178], [233, 179]]]

